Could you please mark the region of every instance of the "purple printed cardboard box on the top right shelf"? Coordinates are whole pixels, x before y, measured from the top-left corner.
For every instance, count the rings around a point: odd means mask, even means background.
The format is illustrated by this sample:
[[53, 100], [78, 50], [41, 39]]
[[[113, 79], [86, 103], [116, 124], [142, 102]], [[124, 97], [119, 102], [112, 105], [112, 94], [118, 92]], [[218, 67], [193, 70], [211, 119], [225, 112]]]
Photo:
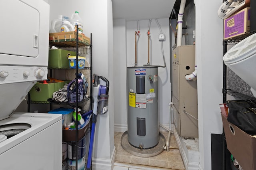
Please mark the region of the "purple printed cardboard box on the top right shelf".
[[250, 32], [250, 8], [244, 8], [224, 19], [224, 40]]

